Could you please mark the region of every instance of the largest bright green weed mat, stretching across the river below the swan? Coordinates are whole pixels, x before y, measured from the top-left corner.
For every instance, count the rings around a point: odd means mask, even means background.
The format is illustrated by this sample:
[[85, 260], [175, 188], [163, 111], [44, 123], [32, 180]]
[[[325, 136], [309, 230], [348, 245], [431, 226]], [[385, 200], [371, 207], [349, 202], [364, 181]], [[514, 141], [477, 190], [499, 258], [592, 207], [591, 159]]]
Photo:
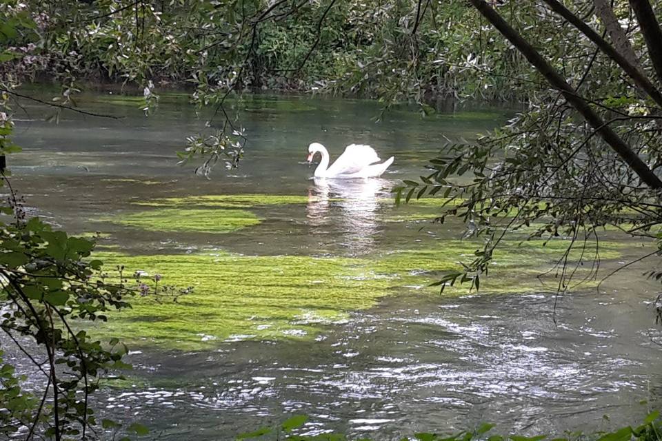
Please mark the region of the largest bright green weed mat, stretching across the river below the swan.
[[[541, 291], [536, 275], [565, 250], [565, 240], [517, 246], [507, 243], [494, 256], [497, 271], [483, 278], [485, 293]], [[603, 243], [602, 258], [619, 256], [619, 246]], [[379, 298], [410, 291], [436, 295], [428, 285], [444, 271], [471, 260], [479, 244], [461, 240], [434, 249], [402, 249], [369, 258], [242, 256], [227, 252], [130, 256], [97, 254], [108, 267], [161, 274], [167, 285], [194, 287], [178, 302], [134, 298], [133, 308], [104, 325], [103, 333], [137, 345], [175, 349], [214, 347], [223, 340], [314, 338], [325, 325]], [[573, 255], [570, 263], [578, 256]], [[553, 285], [553, 284], [552, 284]], [[548, 290], [553, 290], [551, 287]], [[445, 294], [465, 294], [468, 285]]]

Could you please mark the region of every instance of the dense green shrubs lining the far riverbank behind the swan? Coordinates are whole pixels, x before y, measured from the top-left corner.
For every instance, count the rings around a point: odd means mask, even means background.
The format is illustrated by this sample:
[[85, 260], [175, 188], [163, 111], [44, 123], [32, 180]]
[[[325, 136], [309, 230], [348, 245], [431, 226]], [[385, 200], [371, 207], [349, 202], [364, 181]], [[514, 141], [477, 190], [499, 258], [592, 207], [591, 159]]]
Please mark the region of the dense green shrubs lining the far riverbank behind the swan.
[[421, 101], [524, 92], [509, 79], [522, 57], [461, 1], [10, 1], [3, 13], [3, 70], [16, 79], [192, 84], [201, 100], [235, 80], [237, 90], [375, 99], [416, 90]]

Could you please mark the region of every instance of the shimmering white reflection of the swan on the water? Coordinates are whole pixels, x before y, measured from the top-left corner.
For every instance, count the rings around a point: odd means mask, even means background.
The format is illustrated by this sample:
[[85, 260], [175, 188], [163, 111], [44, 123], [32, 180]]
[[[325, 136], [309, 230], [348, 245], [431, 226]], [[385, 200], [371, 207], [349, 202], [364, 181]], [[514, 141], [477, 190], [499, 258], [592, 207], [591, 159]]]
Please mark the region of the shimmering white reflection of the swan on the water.
[[381, 228], [379, 199], [388, 196], [389, 189], [386, 179], [314, 179], [306, 207], [311, 234], [330, 235], [329, 240], [352, 254], [372, 251]]

